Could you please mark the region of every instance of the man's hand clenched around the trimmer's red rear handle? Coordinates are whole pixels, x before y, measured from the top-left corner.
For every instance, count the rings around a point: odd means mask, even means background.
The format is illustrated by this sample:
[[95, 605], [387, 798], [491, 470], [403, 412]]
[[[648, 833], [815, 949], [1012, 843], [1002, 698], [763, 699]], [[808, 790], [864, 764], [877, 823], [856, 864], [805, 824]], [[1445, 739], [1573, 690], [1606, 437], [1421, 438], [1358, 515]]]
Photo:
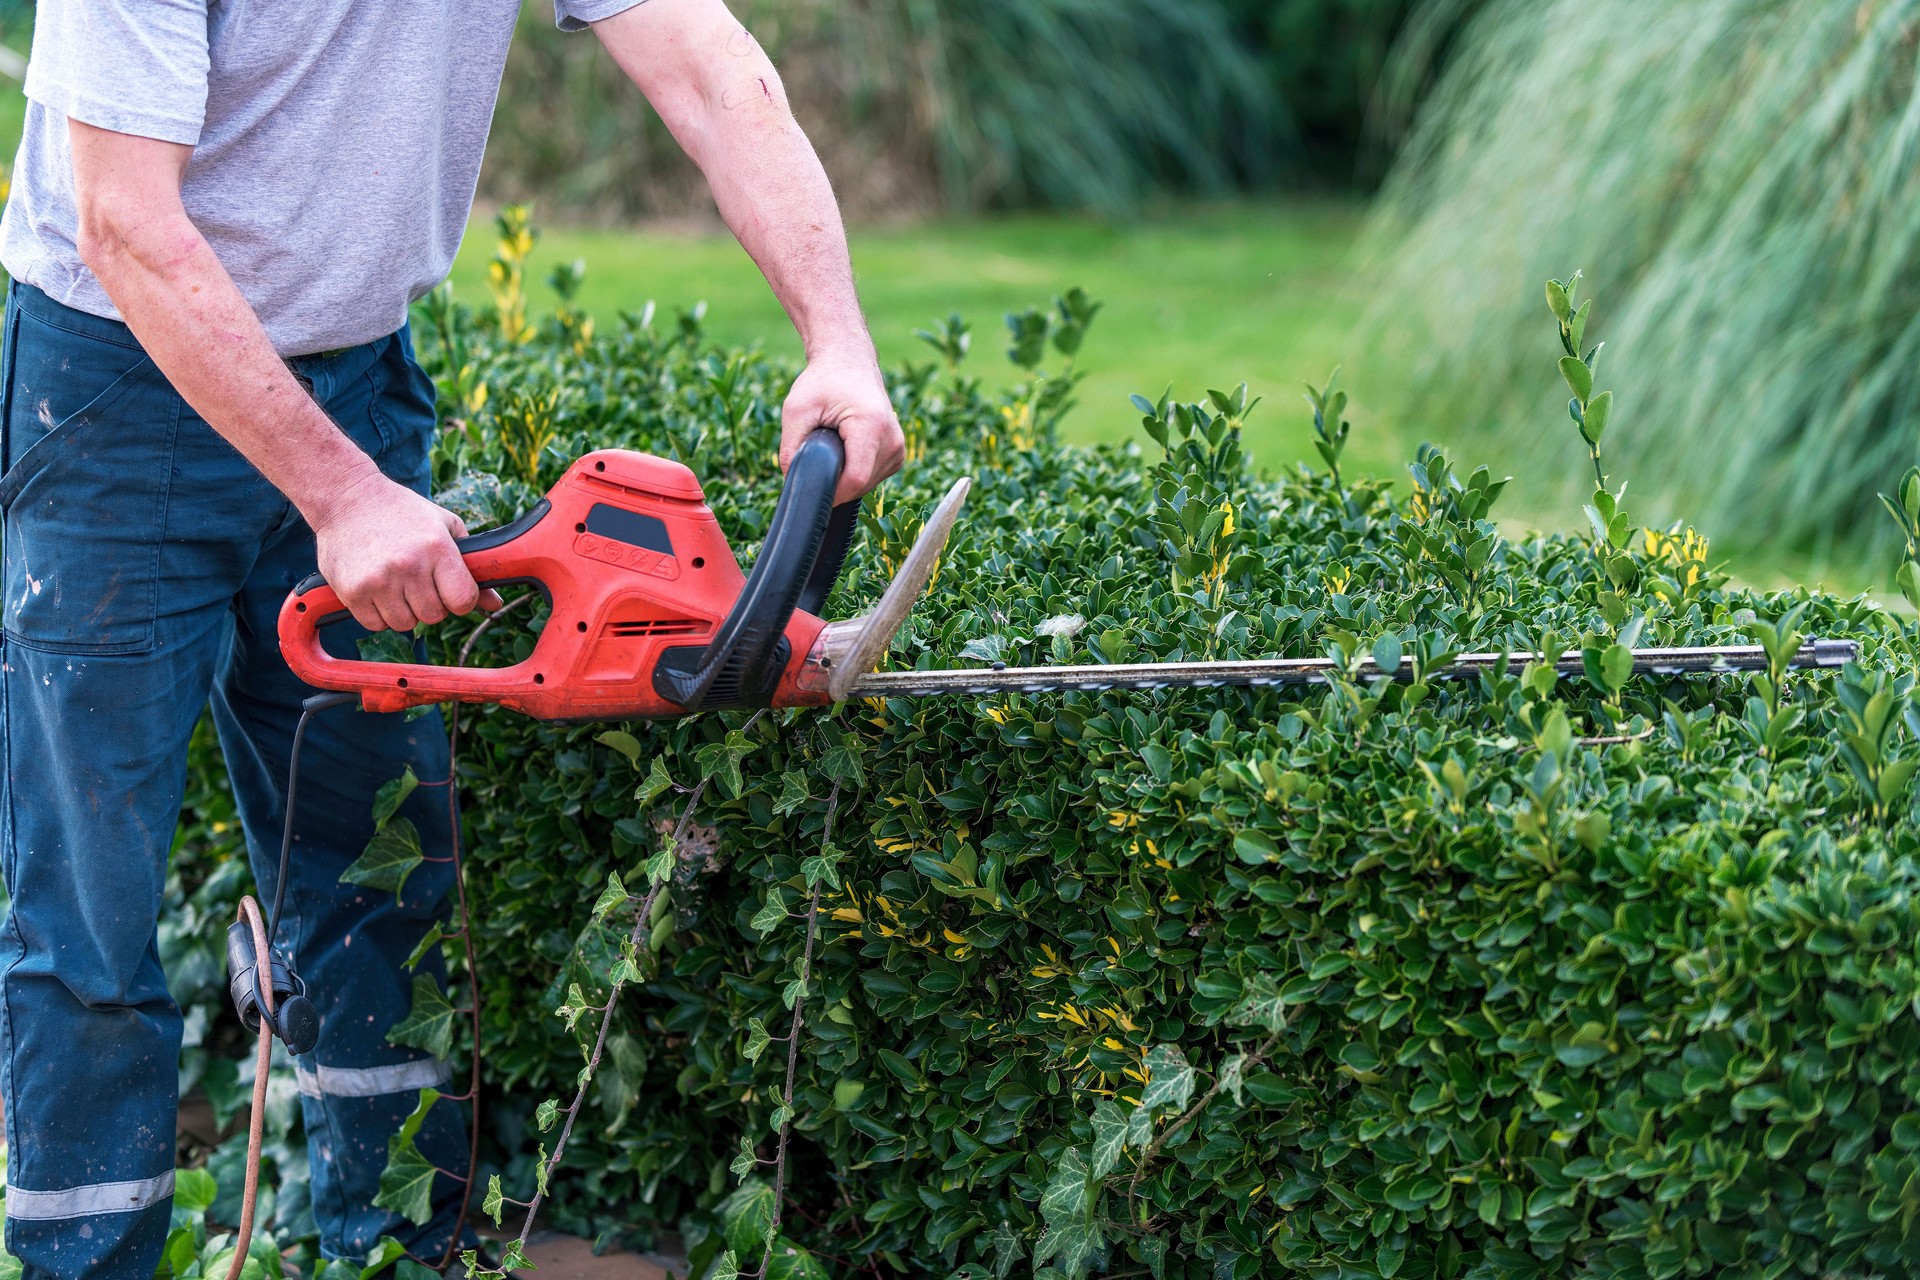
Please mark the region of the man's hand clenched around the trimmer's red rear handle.
[[501, 606], [461, 560], [461, 518], [376, 470], [353, 480], [315, 512], [321, 576], [369, 631]]

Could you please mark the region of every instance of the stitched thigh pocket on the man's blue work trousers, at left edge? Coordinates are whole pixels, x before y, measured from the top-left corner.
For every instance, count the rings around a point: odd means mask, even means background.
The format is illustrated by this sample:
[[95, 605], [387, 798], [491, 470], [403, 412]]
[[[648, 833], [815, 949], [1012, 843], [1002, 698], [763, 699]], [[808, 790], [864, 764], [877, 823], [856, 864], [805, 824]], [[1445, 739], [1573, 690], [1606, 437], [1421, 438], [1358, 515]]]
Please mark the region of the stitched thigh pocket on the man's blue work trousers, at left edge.
[[21, 290], [8, 311], [0, 622], [54, 652], [144, 652], [180, 397], [138, 345], [83, 332], [109, 320], [63, 322], [65, 307]]

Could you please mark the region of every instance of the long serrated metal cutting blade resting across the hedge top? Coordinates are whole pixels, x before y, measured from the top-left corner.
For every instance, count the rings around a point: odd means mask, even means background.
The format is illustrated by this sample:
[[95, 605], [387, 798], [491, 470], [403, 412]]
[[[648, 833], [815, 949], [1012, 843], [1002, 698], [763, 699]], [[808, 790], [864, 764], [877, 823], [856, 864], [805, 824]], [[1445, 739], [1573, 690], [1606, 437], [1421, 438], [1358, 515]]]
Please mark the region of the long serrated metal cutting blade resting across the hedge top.
[[[1837, 668], [1859, 656], [1855, 641], [1814, 639], [1793, 654], [1795, 668]], [[1720, 645], [1699, 649], [1634, 649], [1636, 676], [1711, 676], [1718, 672], [1764, 672], [1766, 651], [1759, 645]], [[1526, 652], [1469, 652], [1453, 658], [1434, 674], [1465, 677], [1480, 672], [1519, 672], [1536, 654]], [[1112, 666], [1008, 666], [956, 668], [941, 672], [872, 672], [852, 683], [849, 697], [856, 699], [924, 699], [933, 695], [985, 693], [1106, 693], [1110, 689], [1215, 689], [1225, 685], [1315, 685], [1338, 670], [1332, 658], [1254, 658], [1246, 662], [1117, 662]], [[1584, 658], [1574, 652], [1557, 664], [1561, 676], [1580, 676]], [[1354, 676], [1375, 679], [1384, 676], [1371, 658]], [[1405, 658], [1396, 679], [1413, 679], [1413, 662]]]

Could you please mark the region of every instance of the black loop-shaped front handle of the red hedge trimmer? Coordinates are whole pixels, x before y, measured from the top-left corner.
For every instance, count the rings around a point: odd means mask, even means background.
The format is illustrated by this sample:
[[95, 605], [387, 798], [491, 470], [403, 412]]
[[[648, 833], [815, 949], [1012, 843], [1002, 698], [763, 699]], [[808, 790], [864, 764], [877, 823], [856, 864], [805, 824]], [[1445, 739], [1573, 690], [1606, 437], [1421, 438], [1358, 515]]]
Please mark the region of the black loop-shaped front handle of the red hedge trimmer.
[[705, 649], [662, 654], [653, 668], [655, 693], [689, 712], [766, 706], [787, 666], [793, 610], [818, 610], [847, 560], [860, 503], [833, 507], [845, 462], [847, 449], [829, 426], [801, 443], [733, 610]]

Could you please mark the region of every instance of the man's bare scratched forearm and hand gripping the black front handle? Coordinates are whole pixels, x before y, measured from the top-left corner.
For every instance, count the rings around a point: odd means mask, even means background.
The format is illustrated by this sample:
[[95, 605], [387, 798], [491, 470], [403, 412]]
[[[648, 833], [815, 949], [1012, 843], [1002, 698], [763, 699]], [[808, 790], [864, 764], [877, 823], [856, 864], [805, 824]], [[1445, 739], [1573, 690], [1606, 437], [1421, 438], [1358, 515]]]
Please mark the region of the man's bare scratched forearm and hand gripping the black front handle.
[[854, 294], [839, 203], [774, 63], [724, 0], [647, 0], [593, 25], [707, 175], [720, 217], [793, 317], [806, 370], [781, 413], [781, 466], [806, 434], [847, 443], [839, 501], [900, 470], [904, 439]]

